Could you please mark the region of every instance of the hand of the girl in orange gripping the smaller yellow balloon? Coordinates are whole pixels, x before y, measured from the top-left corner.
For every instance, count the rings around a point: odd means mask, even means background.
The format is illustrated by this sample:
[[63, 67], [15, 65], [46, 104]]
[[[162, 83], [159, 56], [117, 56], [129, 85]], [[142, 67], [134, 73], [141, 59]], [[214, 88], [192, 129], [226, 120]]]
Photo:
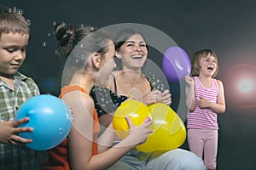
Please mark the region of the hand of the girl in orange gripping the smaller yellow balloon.
[[138, 144], [143, 144], [148, 139], [148, 134], [153, 133], [151, 129], [147, 128], [152, 124], [150, 119], [146, 119], [140, 126], [134, 126], [129, 117], [126, 117], [126, 121], [130, 128], [130, 133], [127, 138], [129, 138], [131, 145], [137, 146]]

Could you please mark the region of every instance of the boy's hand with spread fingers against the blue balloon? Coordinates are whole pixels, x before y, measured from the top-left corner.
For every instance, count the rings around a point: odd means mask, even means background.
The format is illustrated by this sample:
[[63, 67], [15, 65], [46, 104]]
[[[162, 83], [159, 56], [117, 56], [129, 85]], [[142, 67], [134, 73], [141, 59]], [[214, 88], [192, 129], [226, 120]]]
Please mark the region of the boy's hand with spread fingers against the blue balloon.
[[28, 122], [29, 118], [25, 117], [18, 121], [3, 121], [0, 122], [0, 143], [10, 144], [26, 144], [31, 143], [32, 139], [21, 138], [18, 134], [32, 132], [32, 127], [17, 127], [24, 122]]

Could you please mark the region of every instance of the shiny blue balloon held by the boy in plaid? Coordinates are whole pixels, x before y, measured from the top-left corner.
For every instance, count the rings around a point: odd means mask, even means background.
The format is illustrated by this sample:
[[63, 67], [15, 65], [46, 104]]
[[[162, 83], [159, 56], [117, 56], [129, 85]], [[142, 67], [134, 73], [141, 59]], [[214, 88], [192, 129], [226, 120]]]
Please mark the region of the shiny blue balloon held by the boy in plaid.
[[27, 99], [17, 111], [15, 120], [29, 117], [29, 122], [19, 127], [32, 127], [32, 132], [19, 133], [20, 137], [32, 139], [26, 146], [32, 150], [49, 150], [61, 144], [72, 127], [72, 114], [61, 99], [48, 94]]

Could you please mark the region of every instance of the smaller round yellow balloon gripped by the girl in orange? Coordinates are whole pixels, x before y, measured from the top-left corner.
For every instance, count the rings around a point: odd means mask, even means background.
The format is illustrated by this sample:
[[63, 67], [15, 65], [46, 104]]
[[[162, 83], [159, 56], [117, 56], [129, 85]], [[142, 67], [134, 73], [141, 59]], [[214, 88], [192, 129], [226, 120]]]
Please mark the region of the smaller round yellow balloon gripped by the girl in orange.
[[129, 134], [129, 125], [125, 117], [129, 117], [135, 126], [139, 126], [150, 116], [148, 106], [140, 101], [131, 99], [123, 102], [113, 115], [113, 129], [120, 139], [125, 139]]

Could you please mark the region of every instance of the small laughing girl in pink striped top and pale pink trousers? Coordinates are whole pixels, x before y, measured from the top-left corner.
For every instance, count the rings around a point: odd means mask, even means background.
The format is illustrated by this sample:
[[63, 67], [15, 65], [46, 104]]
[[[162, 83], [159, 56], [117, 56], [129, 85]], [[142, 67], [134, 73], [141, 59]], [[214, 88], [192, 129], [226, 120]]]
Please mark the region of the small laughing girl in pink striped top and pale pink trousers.
[[217, 116], [225, 111], [224, 86], [214, 79], [217, 73], [217, 55], [203, 49], [192, 60], [192, 77], [185, 76], [189, 149], [201, 158], [204, 155], [208, 170], [217, 166]]

